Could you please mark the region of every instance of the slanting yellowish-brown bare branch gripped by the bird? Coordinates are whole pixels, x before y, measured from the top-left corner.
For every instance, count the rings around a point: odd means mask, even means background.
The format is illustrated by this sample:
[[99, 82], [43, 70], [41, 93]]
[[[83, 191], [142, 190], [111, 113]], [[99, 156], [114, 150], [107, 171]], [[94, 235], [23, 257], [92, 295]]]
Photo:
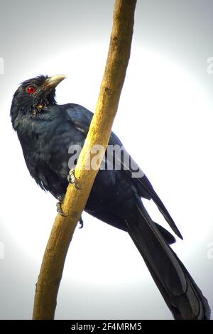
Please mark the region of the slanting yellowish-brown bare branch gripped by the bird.
[[[75, 168], [82, 190], [69, 185], [62, 210], [67, 217], [57, 215], [50, 233], [35, 291], [33, 319], [53, 319], [65, 258], [77, 222], [87, 203], [98, 170], [87, 170], [91, 149], [95, 145], [107, 148], [111, 126], [119, 105], [126, 68], [129, 63], [136, 0], [116, 0], [114, 23], [104, 77], [96, 111], [92, 118], [84, 147]], [[99, 166], [102, 161], [99, 158]]]

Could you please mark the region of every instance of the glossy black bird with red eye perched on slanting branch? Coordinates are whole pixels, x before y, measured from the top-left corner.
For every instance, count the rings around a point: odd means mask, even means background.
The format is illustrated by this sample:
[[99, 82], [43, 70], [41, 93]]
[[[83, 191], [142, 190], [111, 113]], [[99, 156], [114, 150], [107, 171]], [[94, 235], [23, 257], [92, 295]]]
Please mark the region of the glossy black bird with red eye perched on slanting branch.
[[[26, 80], [16, 90], [11, 104], [11, 121], [17, 131], [31, 176], [40, 188], [62, 200], [67, 188], [70, 146], [83, 146], [92, 112], [78, 104], [58, 105], [55, 87], [64, 75], [40, 75]], [[109, 144], [122, 147], [111, 132]], [[155, 224], [141, 198], [153, 200], [173, 231], [178, 227], [139, 169], [136, 177], [126, 159], [114, 154], [120, 170], [100, 169], [89, 195], [86, 212], [114, 227], [129, 232], [175, 319], [209, 319], [210, 308], [195, 281], [169, 244], [175, 238]], [[105, 155], [105, 164], [109, 155]], [[113, 231], [112, 231], [113, 232]]]

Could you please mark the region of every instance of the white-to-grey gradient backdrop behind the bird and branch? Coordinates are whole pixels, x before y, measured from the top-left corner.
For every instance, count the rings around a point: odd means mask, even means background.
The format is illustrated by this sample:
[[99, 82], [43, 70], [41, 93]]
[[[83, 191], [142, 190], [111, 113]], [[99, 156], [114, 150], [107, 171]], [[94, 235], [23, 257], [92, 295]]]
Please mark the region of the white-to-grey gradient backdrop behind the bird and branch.
[[[94, 110], [113, 6], [112, 0], [1, 0], [0, 56], [5, 62], [5, 73], [0, 75], [2, 319], [31, 318], [35, 282], [55, 217], [55, 200], [31, 180], [11, 129], [11, 97], [18, 83], [28, 77], [62, 72], [67, 81], [58, 87], [58, 102], [76, 102]], [[207, 75], [207, 58], [213, 55], [212, 31], [212, 0], [138, 1], [131, 62], [114, 124], [180, 227], [185, 238], [174, 249], [210, 306], [213, 259], [207, 251], [213, 241], [213, 75]], [[161, 100], [155, 76], [149, 85], [150, 104], [144, 109], [146, 90], [140, 89], [140, 85], [146, 87], [143, 59], [140, 62], [143, 48], [152, 50], [156, 64], [163, 56], [202, 87], [209, 109], [198, 108], [198, 125], [193, 126], [190, 104], [185, 108], [185, 100], [179, 101], [175, 75], [167, 82], [171, 89], [174, 86], [170, 114], [163, 113], [167, 92]], [[69, 58], [64, 56], [67, 52]], [[157, 79], [160, 69], [155, 68], [155, 61], [153, 69]], [[179, 87], [183, 84], [179, 82]], [[155, 99], [159, 99], [155, 101], [159, 109], [152, 107]], [[173, 111], [177, 102], [182, 106], [180, 114]], [[179, 140], [182, 136], [185, 141]], [[143, 144], [138, 148], [135, 141]], [[151, 210], [158, 219], [158, 213]], [[84, 229], [77, 229], [67, 257], [55, 318], [170, 319], [131, 239], [88, 215], [83, 217]]]

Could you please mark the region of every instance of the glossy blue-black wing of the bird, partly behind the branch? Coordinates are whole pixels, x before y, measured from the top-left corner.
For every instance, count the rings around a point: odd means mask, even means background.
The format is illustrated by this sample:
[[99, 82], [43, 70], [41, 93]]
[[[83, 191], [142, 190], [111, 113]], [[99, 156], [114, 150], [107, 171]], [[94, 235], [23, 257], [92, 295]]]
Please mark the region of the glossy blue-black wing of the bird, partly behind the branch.
[[[79, 104], [65, 104], [65, 109], [67, 110], [68, 119], [72, 122], [72, 124], [75, 125], [75, 128], [81, 132], [84, 132], [85, 136], [87, 136], [87, 132], [89, 131], [89, 125], [93, 117], [92, 112], [80, 106]], [[182, 235], [180, 234], [178, 227], [175, 225], [173, 218], [170, 216], [163, 202], [155, 193], [155, 190], [153, 189], [150, 181], [148, 181], [148, 178], [143, 173], [141, 168], [139, 168], [139, 166], [135, 163], [135, 161], [133, 161], [131, 156], [129, 156], [129, 153], [127, 153], [127, 151], [124, 149], [123, 144], [116, 136], [116, 134], [114, 134], [114, 132], [111, 132], [109, 145], [118, 145], [122, 147], [124, 155], [115, 155], [114, 158], [116, 159], [116, 163], [120, 163], [121, 169], [129, 175], [129, 178], [131, 178], [134, 183], [136, 183], [139, 195], [141, 195], [141, 197], [143, 198], [147, 198], [149, 200], [152, 199], [154, 201], [155, 205], [158, 206], [158, 210], [160, 210], [161, 214], [168, 222], [168, 225], [170, 225], [175, 234], [178, 235], [180, 239], [182, 239]], [[109, 152], [107, 152], [108, 156]], [[131, 163], [129, 163], [129, 159], [124, 158], [124, 156], [129, 157], [131, 159]]]

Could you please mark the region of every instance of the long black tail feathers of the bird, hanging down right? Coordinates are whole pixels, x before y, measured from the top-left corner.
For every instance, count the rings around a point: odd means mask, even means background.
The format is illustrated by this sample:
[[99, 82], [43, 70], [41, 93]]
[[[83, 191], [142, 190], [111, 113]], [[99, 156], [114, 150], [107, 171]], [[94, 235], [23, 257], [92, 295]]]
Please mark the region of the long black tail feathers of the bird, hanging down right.
[[175, 319], [209, 319], [210, 308], [189, 272], [160, 234], [142, 203], [136, 222], [126, 221], [155, 284]]

